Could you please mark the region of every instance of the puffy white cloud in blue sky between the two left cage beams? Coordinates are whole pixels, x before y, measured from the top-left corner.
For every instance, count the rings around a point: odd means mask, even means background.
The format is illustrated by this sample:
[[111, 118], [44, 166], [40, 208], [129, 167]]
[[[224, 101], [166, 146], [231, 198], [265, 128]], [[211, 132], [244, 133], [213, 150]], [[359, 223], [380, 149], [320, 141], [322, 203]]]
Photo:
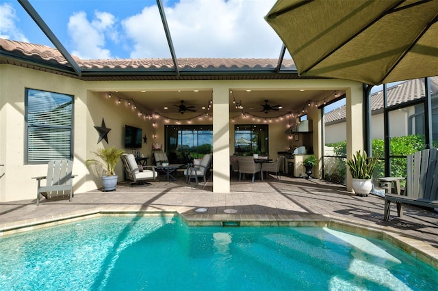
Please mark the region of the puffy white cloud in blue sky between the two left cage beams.
[[114, 28], [116, 18], [107, 12], [94, 12], [91, 23], [85, 12], [77, 12], [68, 20], [68, 34], [72, 38], [73, 55], [81, 59], [112, 59], [111, 51], [105, 48], [105, 36], [117, 41]]

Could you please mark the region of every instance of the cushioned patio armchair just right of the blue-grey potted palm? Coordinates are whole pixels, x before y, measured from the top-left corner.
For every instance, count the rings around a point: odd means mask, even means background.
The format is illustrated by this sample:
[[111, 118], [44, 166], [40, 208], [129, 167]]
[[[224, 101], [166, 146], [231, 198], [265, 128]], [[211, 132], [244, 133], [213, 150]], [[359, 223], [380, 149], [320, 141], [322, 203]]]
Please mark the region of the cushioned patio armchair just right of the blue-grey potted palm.
[[123, 161], [127, 178], [133, 181], [133, 183], [131, 183], [131, 186], [148, 185], [151, 183], [144, 181], [155, 180], [157, 178], [158, 174], [155, 171], [155, 167], [153, 165], [137, 165], [136, 158], [133, 154], [122, 154], [120, 158]]

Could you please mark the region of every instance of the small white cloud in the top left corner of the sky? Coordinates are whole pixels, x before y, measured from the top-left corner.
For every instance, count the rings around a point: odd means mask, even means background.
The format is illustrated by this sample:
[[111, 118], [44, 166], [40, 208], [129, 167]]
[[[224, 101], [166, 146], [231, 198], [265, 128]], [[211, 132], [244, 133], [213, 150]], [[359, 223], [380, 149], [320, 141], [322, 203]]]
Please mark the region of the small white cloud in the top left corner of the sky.
[[16, 12], [10, 4], [0, 4], [0, 38], [29, 42], [23, 32], [16, 27], [18, 21]]

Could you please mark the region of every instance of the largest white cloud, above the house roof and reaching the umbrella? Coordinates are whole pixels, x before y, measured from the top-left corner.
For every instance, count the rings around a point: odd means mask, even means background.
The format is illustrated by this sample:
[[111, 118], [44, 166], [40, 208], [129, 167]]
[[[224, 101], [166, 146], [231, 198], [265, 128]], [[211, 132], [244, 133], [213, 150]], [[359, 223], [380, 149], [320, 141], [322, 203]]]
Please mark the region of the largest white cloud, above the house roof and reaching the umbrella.
[[[278, 57], [281, 40], [263, 18], [274, 2], [181, 0], [165, 8], [177, 57]], [[122, 24], [131, 57], [170, 57], [156, 5]]]

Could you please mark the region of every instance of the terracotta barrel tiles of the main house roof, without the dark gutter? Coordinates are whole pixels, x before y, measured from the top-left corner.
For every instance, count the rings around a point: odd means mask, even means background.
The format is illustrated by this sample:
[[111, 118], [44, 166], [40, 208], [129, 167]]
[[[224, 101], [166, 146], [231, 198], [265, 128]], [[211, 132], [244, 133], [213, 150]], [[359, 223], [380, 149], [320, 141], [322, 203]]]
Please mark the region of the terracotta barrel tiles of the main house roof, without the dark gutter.
[[[56, 49], [41, 44], [29, 44], [16, 40], [0, 38], [0, 50], [2, 55], [10, 53], [21, 57], [27, 57], [36, 61], [60, 64], [71, 67], [68, 61]], [[172, 59], [79, 59], [72, 56], [83, 72], [87, 70], [172, 70], [175, 71]], [[214, 70], [225, 72], [230, 70], [274, 70], [277, 59], [227, 59], [227, 58], [181, 58], [177, 59], [179, 70], [197, 71]], [[3, 63], [5, 61], [2, 61]], [[284, 59], [283, 70], [296, 71], [292, 59]], [[123, 74], [123, 72], [120, 72]]]

